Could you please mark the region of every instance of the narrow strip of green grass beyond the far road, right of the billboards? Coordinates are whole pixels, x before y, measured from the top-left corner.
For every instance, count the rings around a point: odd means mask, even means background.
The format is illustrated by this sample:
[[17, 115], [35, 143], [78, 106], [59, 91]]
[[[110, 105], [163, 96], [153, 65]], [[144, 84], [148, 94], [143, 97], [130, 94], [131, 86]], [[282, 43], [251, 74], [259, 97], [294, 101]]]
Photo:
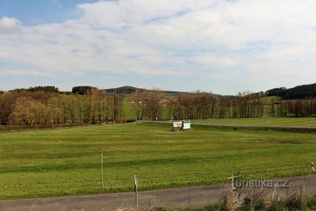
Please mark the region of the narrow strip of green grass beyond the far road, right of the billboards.
[[[270, 123], [267, 123], [270, 121]], [[208, 123], [226, 123], [226, 124], [242, 124], [242, 125], [273, 125], [273, 126], [298, 126], [298, 127], [316, 127], [315, 117], [262, 117], [262, 118], [234, 118], [234, 119], [204, 119], [192, 120], [192, 122], [208, 122]]]

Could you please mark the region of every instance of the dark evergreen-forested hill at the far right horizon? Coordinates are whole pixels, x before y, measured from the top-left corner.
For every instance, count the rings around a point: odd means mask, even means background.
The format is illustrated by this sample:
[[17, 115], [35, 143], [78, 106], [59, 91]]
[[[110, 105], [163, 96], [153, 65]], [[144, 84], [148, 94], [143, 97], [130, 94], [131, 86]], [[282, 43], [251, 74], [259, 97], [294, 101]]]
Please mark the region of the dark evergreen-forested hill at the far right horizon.
[[295, 86], [287, 89], [286, 87], [274, 88], [265, 91], [266, 96], [283, 96], [286, 100], [301, 99], [316, 96], [316, 83]]

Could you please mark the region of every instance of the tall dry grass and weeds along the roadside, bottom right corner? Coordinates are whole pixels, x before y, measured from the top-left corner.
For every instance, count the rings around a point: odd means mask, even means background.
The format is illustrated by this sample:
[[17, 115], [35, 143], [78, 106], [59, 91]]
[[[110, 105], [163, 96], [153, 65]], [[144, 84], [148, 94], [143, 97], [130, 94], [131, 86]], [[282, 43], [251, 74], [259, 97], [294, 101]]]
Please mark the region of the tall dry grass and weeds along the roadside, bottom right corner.
[[247, 194], [243, 193], [243, 189], [227, 186], [222, 190], [218, 210], [316, 210], [316, 193], [306, 194], [309, 177], [303, 181], [302, 186], [293, 183], [285, 191], [274, 186], [270, 193], [261, 188], [251, 189]]

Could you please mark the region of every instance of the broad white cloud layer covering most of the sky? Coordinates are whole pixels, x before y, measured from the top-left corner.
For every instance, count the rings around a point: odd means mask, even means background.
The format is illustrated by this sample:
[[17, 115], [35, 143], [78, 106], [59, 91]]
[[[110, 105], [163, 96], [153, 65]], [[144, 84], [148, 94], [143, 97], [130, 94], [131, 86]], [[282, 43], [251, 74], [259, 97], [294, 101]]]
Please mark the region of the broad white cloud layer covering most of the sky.
[[14, 67], [2, 65], [1, 74], [265, 75], [261, 80], [268, 84], [285, 75], [306, 81], [315, 73], [315, 1], [101, 1], [77, 7], [84, 15], [61, 24], [23, 27], [3, 17], [0, 57]]

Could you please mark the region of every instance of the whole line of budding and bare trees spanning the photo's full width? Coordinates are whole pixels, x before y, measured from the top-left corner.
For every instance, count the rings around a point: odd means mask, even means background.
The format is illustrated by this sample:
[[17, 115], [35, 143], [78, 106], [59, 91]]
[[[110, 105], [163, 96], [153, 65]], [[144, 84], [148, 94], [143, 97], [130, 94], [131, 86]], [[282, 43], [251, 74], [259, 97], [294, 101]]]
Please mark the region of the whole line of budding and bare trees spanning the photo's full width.
[[[78, 89], [79, 90], [79, 89]], [[164, 102], [158, 88], [136, 89], [130, 96], [138, 120], [251, 117], [304, 117], [316, 113], [316, 97], [282, 100], [263, 92], [238, 92], [234, 99], [210, 92], [192, 91]], [[166, 116], [167, 114], [167, 116]], [[125, 121], [124, 102], [114, 90], [106, 93], [88, 87], [84, 95], [14, 90], [0, 93], [1, 124], [120, 123]]]

